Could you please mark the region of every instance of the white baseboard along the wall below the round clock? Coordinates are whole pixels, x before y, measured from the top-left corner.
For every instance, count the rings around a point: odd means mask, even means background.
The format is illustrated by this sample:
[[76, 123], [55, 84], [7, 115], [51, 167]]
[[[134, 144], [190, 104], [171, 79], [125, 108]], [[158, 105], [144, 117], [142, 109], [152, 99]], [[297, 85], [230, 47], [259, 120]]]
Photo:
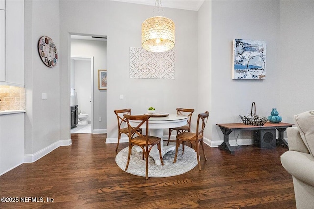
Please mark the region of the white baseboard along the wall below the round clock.
[[59, 140], [54, 142], [53, 144], [49, 145], [48, 147], [45, 147], [44, 149], [39, 150], [38, 152], [34, 154], [26, 154], [24, 155], [24, 163], [33, 163], [37, 161], [38, 159], [44, 157], [48, 153], [52, 152], [56, 148], [60, 146], [70, 146], [72, 144], [72, 140]]

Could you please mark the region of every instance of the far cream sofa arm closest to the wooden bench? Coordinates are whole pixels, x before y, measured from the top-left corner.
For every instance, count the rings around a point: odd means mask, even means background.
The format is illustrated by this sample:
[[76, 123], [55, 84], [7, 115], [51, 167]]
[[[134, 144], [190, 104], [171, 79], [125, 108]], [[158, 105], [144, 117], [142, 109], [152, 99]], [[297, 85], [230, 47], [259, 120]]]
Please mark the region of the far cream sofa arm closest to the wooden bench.
[[286, 130], [289, 150], [310, 153], [308, 148], [305, 146], [297, 127], [288, 127]]

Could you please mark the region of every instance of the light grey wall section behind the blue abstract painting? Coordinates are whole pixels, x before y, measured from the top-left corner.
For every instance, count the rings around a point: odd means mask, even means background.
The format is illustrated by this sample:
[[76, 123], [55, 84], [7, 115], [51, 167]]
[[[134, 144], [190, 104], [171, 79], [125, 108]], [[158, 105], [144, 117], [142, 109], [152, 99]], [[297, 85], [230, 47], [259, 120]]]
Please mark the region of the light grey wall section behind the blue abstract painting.
[[[279, 1], [212, 1], [211, 127], [212, 145], [223, 140], [217, 123], [242, 122], [256, 103], [257, 115], [269, 116], [279, 107]], [[232, 40], [267, 42], [266, 80], [232, 80]], [[202, 42], [202, 40], [199, 40]], [[278, 110], [280, 112], [280, 109]], [[237, 133], [230, 135], [230, 139]], [[251, 132], [241, 132], [239, 139]]]

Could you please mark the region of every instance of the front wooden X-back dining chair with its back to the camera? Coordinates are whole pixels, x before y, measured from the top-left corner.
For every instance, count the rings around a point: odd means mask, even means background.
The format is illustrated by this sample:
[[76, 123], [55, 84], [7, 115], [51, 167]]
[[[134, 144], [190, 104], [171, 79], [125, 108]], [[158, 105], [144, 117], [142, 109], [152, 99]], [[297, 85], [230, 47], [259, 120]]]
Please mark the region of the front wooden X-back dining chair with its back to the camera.
[[[163, 165], [162, 161], [162, 155], [161, 155], [161, 139], [159, 137], [154, 137], [154, 136], [149, 136], [148, 135], [148, 119], [150, 116], [147, 115], [123, 115], [126, 118], [126, 122], [128, 124], [128, 136], [129, 136], [129, 152], [128, 152], [128, 161], [126, 165], [126, 169], [128, 169], [129, 162], [130, 162], [130, 156], [132, 154], [132, 147], [137, 145], [142, 148], [143, 150], [143, 160], [145, 158], [146, 160], [146, 170], [145, 170], [145, 179], [148, 179], [148, 155], [151, 149], [153, 148], [154, 145], [157, 144], [158, 149], [159, 149], [159, 155], [160, 155], [160, 161], [161, 164]], [[129, 121], [140, 121], [137, 127], [132, 127], [129, 123]], [[141, 132], [138, 130], [140, 127], [146, 123], [146, 135], [142, 135]]]

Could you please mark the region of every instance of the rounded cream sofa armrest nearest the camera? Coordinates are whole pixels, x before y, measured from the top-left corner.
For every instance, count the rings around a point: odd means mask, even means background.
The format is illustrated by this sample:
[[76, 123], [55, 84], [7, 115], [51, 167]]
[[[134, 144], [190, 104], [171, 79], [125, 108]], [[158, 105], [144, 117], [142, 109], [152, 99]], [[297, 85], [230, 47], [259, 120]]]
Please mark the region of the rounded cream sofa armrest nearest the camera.
[[314, 158], [311, 154], [289, 150], [280, 156], [280, 161], [289, 174], [314, 186]]

